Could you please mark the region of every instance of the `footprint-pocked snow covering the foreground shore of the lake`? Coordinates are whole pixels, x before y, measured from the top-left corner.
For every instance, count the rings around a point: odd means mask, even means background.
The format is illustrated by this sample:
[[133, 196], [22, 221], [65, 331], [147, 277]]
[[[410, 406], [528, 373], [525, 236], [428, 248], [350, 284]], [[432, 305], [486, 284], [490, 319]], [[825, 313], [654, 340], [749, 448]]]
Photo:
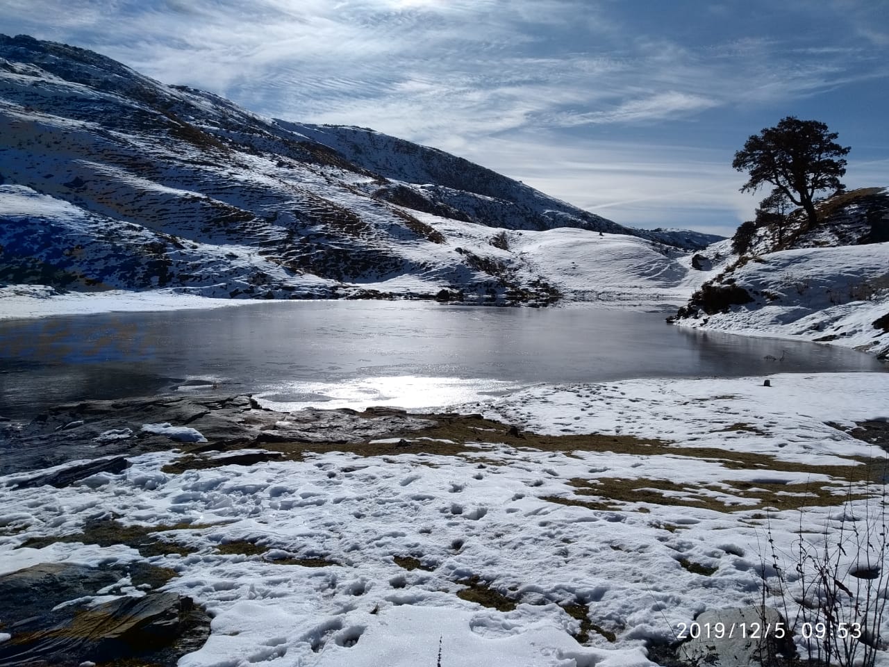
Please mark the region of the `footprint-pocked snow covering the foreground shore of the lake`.
[[[889, 375], [771, 382], [538, 387], [458, 408], [516, 424], [527, 446], [477, 429], [460, 454], [436, 454], [432, 440], [428, 454], [307, 454], [178, 474], [162, 470], [178, 454], [144, 454], [124, 473], [52, 493], [0, 486], [0, 572], [139, 559], [126, 546], [17, 548], [115, 516], [178, 526], [163, 536], [193, 550], [150, 559], [178, 573], [168, 590], [213, 616], [206, 645], [180, 665], [431, 666], [440, 646], [453, 667], [641, 667], [653, 664], [645, 642], [668, 642], [679, 623], [756, 605], [770, 539], [797, 593], [801, 534], [818, 545], [844, 517], [847, 531], [853, 515], [870, 513], [856, 526], [880, 520], [884, 489], [861, 481], [853, 457], [885, 453], [825, 422], [885, 419]], [[575, 439], [547, 445], [530, 431]], [[593, 432], [605, 438], [595, 446], [580, 436]], [[844, 509], [850, 491], [877, 500]], [[220, 551], [227, 542], [254, 548]], [[847, 551], [839, 573], [851, 586], [860, 580], [845, 574], [857, 557]], [[458, 597], [473, 581], [508, 604]], [[566, 608], [582, 610], [585, 644]]]

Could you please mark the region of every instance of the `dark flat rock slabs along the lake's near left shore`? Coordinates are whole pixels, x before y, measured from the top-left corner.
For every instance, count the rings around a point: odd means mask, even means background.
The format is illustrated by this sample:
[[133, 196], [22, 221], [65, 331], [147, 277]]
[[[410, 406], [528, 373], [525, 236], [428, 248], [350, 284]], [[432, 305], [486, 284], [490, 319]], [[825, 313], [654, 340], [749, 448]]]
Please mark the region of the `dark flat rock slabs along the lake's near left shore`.
[[[72, 422], [79, 425], [59, 428]], [[213, 393], [84, 401], [54, 406], [20, 430], [6, 427], [0, 440], [0, 475], [92, 459], [97, 445], [101, 454], [116, 456], [16, 480], [28, 486], [67, 486], [98, 472], [119, 473], [126, 467], [124, 456], [146, 452], [222, 451], [260, 443], [361, 443], [432, 424], [391, 408], [282, 413], [260, 407], [250, 396]]]

